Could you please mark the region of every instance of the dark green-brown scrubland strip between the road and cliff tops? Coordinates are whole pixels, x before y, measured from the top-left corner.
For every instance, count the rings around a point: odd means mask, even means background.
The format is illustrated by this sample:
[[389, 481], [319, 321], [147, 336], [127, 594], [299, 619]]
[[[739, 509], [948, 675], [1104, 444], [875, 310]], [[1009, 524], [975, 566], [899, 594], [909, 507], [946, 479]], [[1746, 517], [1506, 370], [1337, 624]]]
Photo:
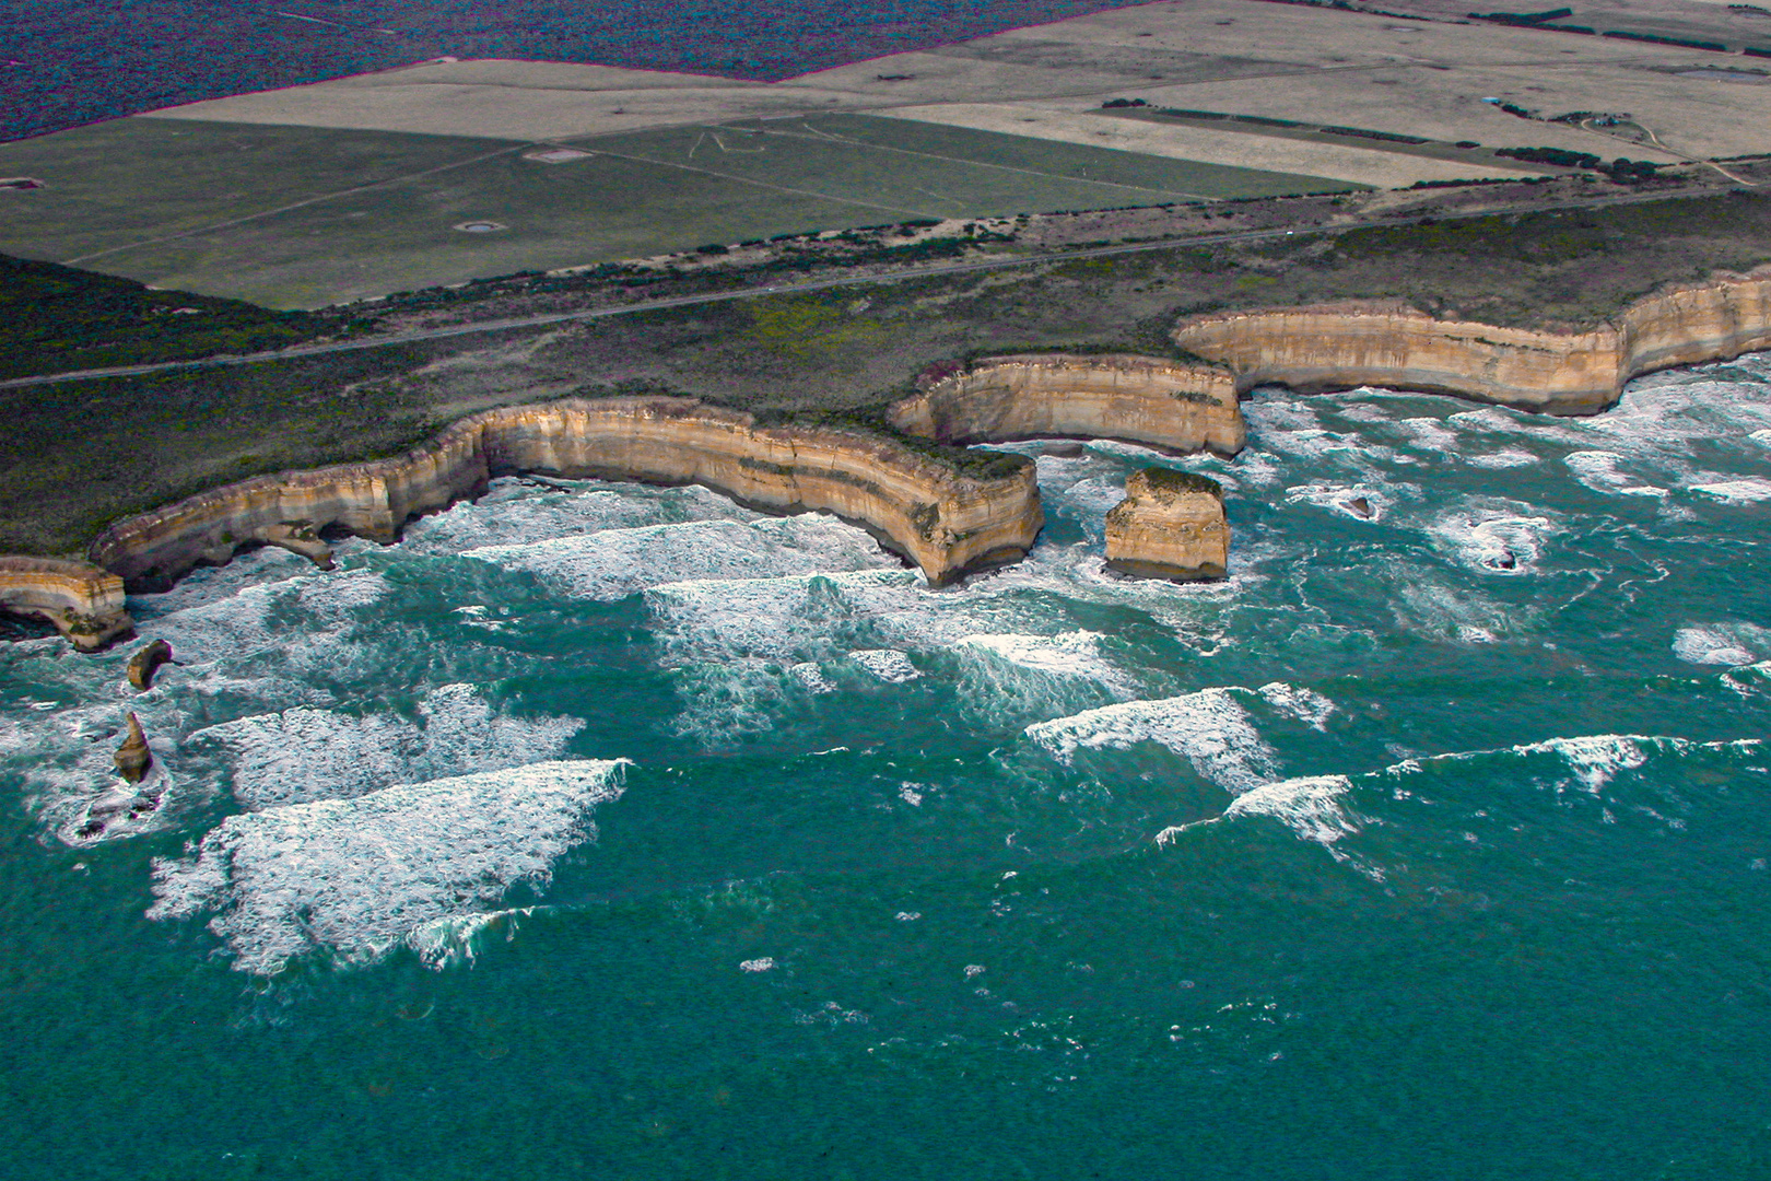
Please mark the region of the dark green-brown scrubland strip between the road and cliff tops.
[[[395, 453], [492, 405], [669, 391], [769, 421], [880, 428], [880, 409], [932, 365], [1047, 349], [1172, 354], [1167, 329], [1197, 312], [1387, 301], [1445, 319], [1580, 329], [1667, 283], [1766, 262], [1771, 197], [1737, 189], [1181, 244], [7, 390], [0, 391], [0, 551], [74, 554], [120, 515], [255, 473]], [[475, 315], [531, 308], [544, 299], [528, 287], [535, 278], [485, 285], [468, 308]], [[638, 278], [629, 269], [600, 282]], [[669, 287], [668, 276], [655, 282]], [[717, 282], [726, 280], [694, 278]], [[584, 287], [576, 297], [592, 296]], [[386, 301], [381, 315], [425, 320], [464, 310], [436, 292], [402, 299]]]

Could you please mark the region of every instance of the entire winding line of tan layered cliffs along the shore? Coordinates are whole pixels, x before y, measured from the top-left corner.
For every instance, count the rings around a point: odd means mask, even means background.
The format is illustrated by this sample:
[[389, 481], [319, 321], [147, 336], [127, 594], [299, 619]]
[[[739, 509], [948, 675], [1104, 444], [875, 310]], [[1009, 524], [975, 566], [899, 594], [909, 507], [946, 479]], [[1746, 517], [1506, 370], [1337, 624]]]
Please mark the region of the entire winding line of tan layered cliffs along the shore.
[[[1038, 485], [1025, 460], [1002, 457], [972, 476], [917, 450], [917, 437], [1102, 437], [1234, 455], [1245, 441], [1238, 398], [1261, 384], [1305, 395], [1373, 384], [1596, 414], [1642, 374], [1771, 347], [1771, 273], [1718, 273], [1654, 292], [1583, 333], [1328, 305], [1195, 315], [1172, 340], [1195, 361], [1041, 352], [937, 367], [886, 411], [878, 432], [763, 427], [666, 395], [483, 411], [393, 459], [253, 476], [119, 521], [94, 538], [89, 563], [0, 558], [0, 606], [51, 621], [106, 620], [85, 627], [83, 641], [96, 650], [126, 634], [128, 616], [115, 588], [81, 588], [166, 586], [259, 544], [324, 567], [328, 529], [391, 542], [407, 519], [517, 471], [703, 483], [765, 512], [832, 512], [946, 586], [1027, 552], [1043, 524]], [[90, 639], [97, 632], [103, 639]]]

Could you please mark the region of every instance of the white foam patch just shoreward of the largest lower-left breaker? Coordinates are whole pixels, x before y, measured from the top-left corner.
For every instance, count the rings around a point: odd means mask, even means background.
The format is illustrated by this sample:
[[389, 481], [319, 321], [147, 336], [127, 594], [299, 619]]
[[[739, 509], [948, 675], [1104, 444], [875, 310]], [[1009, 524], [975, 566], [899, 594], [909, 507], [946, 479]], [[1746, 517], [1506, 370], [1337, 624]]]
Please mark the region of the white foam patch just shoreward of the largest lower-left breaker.
[[418, 715], [421, 724], [397, 714], [294, 708], [207, 726], [189, 735], [189, 745], [221, 751], [236, 799], [264, 809], [538, 763], [556, 758], [584, 728], [576, 717], [512, 717], [473, 685], [432, 689]]

